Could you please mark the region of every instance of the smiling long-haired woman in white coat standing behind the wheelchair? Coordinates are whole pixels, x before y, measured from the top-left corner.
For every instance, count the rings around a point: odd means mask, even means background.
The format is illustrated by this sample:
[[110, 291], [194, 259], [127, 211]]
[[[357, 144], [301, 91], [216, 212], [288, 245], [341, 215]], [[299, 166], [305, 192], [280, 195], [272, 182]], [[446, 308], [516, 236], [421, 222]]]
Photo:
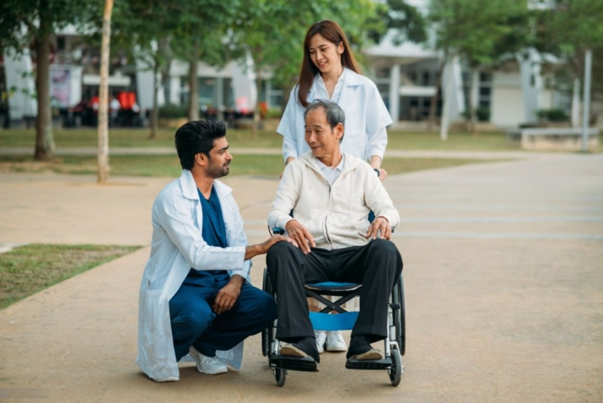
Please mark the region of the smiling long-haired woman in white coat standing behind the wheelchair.
[[[377, 86], [360, 74], [346, 35], [337, 22], [323, 20], [308, 29], [303, 45], [300, 79], [276, 131], [282, 135], [282, 155], [287, 165], [309, 151], [305, 142], [303, 113], [314, 99], [334, 101], [346, 113], [346, 132], [341, 151], [368, 161], [383, 181], [381, 168], [387, 146], [386, 127], [391, 117]], [[318, 310], [318, 306], [311, 309]], [[341, 331], [315, 331], [316, 345], [323, 352], [345, 352]]]

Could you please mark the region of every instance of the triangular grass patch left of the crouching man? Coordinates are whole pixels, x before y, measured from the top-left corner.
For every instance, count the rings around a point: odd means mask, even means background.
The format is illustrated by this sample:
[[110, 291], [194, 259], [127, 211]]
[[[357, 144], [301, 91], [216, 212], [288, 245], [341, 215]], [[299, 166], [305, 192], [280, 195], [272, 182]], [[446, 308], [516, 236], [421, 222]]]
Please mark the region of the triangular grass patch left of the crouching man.
[[0, 309], [139, 248], [31, 244], [0, 254]]

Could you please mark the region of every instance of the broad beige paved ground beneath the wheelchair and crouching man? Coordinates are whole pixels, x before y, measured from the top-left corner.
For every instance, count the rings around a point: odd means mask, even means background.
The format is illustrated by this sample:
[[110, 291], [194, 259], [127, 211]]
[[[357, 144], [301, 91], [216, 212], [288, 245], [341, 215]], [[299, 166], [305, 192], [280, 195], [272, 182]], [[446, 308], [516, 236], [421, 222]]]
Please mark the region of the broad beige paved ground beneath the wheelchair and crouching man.
[[[388, 177], [405, 259], [398, 388], [328, 353], [321, 372], [290, 372], [278, 388], [258, 336], [241, 372], [210, 377], [185, 363], [179, 382], [149, 381], [134, 364], [147, 246], [0, 311], [0, 400], [602, 402], [603, 155], [547, 156]], [[0, 242], [148, 245], [168, 181], [0, 175]], [[250, 241], [263, 240], [278, 182], [226, 181]], [[264, 258], [254, 263], [257, 285]]]

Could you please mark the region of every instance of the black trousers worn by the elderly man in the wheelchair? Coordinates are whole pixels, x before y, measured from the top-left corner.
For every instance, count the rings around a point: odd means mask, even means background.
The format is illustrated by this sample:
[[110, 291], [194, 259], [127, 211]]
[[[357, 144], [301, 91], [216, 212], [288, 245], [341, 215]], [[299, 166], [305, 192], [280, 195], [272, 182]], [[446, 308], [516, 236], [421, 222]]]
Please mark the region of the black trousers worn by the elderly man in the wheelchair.
[[377, 239], [364, 246], [313, 248], [307, 255], [289, 242], [277, 242], [266, 263], [277, 295], [279, 340], [314, 337], [304, 284], [323, 281], [362, 284], [352, 336], [369, 336], [373, 343], [387, 335], [387, 304], [402, 272], [402, 256], [393, 242]]

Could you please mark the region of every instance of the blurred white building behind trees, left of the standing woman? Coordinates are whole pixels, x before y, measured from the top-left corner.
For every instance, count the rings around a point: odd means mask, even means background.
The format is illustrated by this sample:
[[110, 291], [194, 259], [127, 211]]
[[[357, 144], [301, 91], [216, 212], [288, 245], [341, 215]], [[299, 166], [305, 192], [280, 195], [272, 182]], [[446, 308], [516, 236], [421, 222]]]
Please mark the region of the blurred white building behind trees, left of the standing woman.
[[[51, 99], [55, 109], [76, 106], [82, 99], [90, 100], [98, 92], [100, 82], [100, 49], [85, 46], [82, 33], [73, 26], [62, 29], [51, 45], [50, 85]], [[10, 49], [3, 51], [4, 79], [8, 92], [10, 120], [20, 122], [37, 114], [35, 99], [35, 60], [28, 49], [15, 54]], [[136, 60], [112, 54], [110, 60], [109, 93], [132, 91], [137, 104], [144, 110], [153, 105], [153, 72], [140, 54]], [[172, 60], [168, 79], [161, 83], [158, 104], [186, 105], [189, 99], [189, 64], [183, 60]], [[198, 63], [198, 101], [201, 110], [234, 110], [237, 113], [253, 112], [257, 101], [253, 60], [246, 63], [230, 62], [217, 69], [203, 62]], [[278, 105], [282, 92], [273, 90], [269, 82], [262, 85], [260, 99], [268, 106]]]

